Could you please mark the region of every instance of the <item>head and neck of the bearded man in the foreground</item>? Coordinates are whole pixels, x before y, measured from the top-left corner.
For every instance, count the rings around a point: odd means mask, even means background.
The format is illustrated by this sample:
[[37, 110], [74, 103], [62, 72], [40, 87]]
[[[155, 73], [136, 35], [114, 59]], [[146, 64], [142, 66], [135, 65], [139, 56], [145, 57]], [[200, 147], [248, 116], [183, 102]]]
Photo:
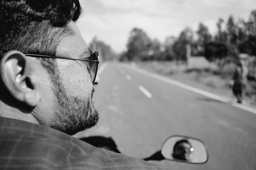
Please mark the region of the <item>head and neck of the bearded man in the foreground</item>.
[[95, 125], [88, 62], [24, 55], [90, 57], [74, 23], [81, 13], [79, 1], [1, 1], [0, 9], [0, 116], [67, 134]]

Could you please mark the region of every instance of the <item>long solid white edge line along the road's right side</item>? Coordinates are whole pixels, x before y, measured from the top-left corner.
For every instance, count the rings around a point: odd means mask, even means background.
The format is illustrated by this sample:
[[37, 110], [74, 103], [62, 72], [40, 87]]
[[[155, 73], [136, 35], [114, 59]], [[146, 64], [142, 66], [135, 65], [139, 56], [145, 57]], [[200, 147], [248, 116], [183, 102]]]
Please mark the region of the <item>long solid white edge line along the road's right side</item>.
[[150, 77], [153, 77], [155, 79], [158, 79], [160, 81], [167, 82], [169, 84], [178, 86], [180, 88], [184, 88], [184, 89], [187, 89], [189, 91], [193, 91], [195, 93], [198, 93], [200, 95], [204, 95], [205, 97], [213, 98], [213, 99], [218, 100], [220, 102], [223, 102], [225, 104], [231, 104], [234, 107], [238, 107], [240, 109], [243, 109], [244, 111], [249, 111], [249, 112], [253, 112], [254, 114], [256, 114], [256, 109], [253, 109], [252, 107], [242, 105], [242, 104], [237, 104], [237, 103], [230, 103], [230, 100], [228, 100], [227, 98], [223, 98], [223, 97], [220, 97], [218, 95], [214, 95], [214, 94], [209, 93], [207, 91], [204, 91], [202, 89], [193, 88], [193, 87], [188, 86], [186, 84], [182, 84], [181, 82], [173, 81], [172, 79], [168, 79], [168, 78], [163, 77], [161, 75], [157, 75], [156, 73], [146, 72], [145, 70], [141, 70], [140, 68], [135, 68], [135, 67], [131, 67], [131, 66], [126, 66], [126, 65], [124, 65], [124, 66], [131, 69], [131, 70], [134, 70], [136, 72], [140, 72], [140, 73], [143, 73], [143, 74], [148, 75]]

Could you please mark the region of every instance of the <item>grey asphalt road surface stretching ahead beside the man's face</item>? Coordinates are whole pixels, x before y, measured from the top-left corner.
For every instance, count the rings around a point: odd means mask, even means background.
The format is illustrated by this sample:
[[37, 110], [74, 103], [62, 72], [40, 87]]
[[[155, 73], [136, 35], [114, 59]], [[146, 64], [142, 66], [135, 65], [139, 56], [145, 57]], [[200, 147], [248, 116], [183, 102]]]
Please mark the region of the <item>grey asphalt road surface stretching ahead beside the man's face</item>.
[[154, 163], [164, 169], [256, 169], [255, 113], [136, 70], [104, 66], [94, 96], [100, 121], [86, 136], [111, 137], [125, 155], [145, 158], [170, 135], [188, 135], [206, 144], [206, 164]]

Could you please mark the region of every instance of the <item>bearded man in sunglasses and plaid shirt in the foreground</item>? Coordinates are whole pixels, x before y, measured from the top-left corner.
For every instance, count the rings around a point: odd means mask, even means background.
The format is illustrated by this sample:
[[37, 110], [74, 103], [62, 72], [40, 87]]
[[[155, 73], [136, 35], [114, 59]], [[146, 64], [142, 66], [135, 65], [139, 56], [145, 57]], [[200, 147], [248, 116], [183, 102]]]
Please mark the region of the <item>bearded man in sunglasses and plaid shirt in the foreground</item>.
[[3, 0], [0, 13], [0, 169], [159, 169], [70, 136], [98, 120], [78, 0]]

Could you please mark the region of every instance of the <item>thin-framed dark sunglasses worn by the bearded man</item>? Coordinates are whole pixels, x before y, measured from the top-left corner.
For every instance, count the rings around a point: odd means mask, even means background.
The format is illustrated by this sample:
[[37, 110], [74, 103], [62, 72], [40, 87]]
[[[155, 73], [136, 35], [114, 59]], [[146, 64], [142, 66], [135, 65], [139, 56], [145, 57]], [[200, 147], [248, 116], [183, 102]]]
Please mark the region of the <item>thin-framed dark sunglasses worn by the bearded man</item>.
[[90, 73], [90, 77], [92, 80], [92, 83], [95, 82], [96, 75], [97, 75], [97, 70], [98, 70], [98, 65], [99, 65], [99, 52], [95, 51], [91, 54], [89, 58], [84, 58], [84, 59], [73, 59], [73, 58], [65, 58], [65, 57], [57, 57], [57, 56], [46, 56], [46, 55], [40, 55], [40, 54], [25, 54], [28, 57], [32, 58], [60, 58], [60, 59], [69, 59], [69, 60], [75, 60], [75, 61], [84, 61], [88, 62], [88, 70]]

